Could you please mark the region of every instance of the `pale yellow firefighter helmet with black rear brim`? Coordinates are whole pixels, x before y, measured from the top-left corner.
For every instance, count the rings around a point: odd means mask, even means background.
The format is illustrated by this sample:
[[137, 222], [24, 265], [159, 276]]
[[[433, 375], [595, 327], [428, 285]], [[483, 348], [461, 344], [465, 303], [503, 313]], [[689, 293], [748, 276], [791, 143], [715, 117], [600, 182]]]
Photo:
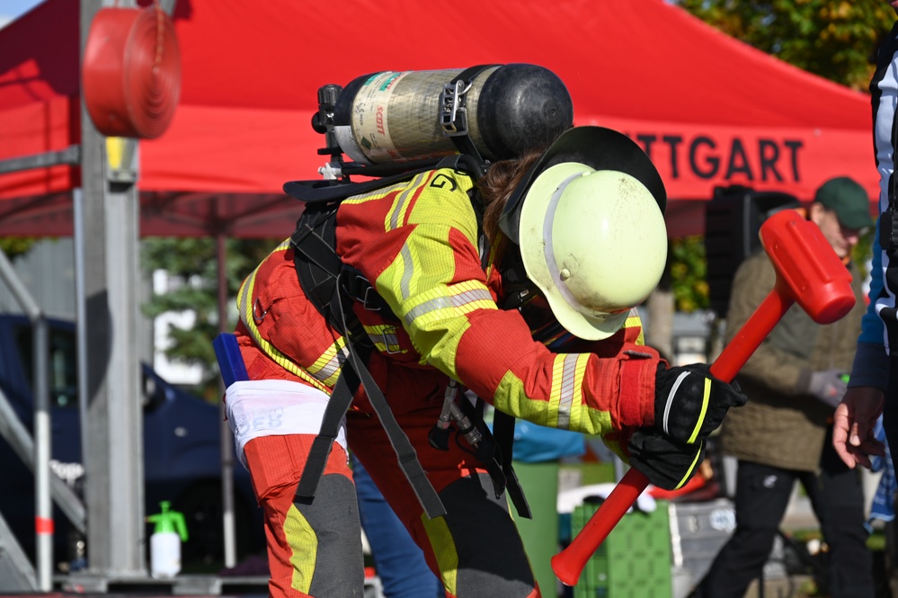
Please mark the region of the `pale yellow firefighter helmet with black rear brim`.
[[527, 277], [573, 335], [613, 335], [661, 280], [666, 194], [648, 156], [626, 136], [569, 129], [511, 202], [500, 227], [508, 235], [516, 225], [509, 237], [520, 246]]

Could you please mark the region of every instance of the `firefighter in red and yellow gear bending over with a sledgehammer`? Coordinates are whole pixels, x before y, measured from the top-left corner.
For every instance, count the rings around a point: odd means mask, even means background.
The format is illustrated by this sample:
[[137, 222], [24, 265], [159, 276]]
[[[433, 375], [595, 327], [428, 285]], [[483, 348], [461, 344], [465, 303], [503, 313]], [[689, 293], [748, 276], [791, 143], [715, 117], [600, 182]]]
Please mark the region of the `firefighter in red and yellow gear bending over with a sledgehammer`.
[[[643, 344], [634, 308], [664, 268], [665, 201], [660, 176], [629, 138], [572, 128], [544, 151], [494, 162], [480, 180], [438, 167], [342, 201], [335, 253], [342, 272], [370, 285], [349, 314], [326, 317], [312, 305], [315, 290], [300, 286], [289, 242], [262, 261], [238, 298], [251, 380], [227, 388], [226, 402], [265, 512], [272, 596], [362, 595], [347, 448], [448, 596], [539, 595], [503, 471], [467, 435], [440, 448], [429, 441], [447, 397], [465, 389], [497, 412], [600, 435], [657, 486], [691, 477], [707, 435], [745, 398], [706, 365], [669, 367]], [[363, 335], [339, 331], [353, 319]], [[365, 340], [368, 352], [359, 349]], [[330, 426], [336, 442], [325, 442], [309, 496], [300, 481], [333, 420], [325, 410], [334, 385], [366, 353], [404, 435], [390, 432], [377, 393], [359, 388]], [[397, 462], [405, 437], [420, 469]]]

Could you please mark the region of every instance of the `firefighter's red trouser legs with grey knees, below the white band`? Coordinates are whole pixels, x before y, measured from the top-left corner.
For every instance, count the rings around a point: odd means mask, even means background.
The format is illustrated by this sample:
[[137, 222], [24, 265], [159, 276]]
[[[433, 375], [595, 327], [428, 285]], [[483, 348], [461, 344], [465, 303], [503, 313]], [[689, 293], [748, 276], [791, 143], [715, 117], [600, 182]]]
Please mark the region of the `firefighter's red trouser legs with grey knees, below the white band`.
[[[446, 595], [456, 598], [538, 598], [539, 592], [504, 494], [464, 441], [431, 448], [427, 434], [440, 404], [396, 413], [447, 514], [429, 519], [396, 461], [376, 416], [347, 415], [351, 451], [393, 507]], [[334, 443], [311, 501], [296, 488], [314, 436], [253, 439], [245, 454], [265, 512], [273, 597], [361, 598], [364, 585], [359, 507], [347, 456]], [[466, 450], [467, 449], [467, 450]]]

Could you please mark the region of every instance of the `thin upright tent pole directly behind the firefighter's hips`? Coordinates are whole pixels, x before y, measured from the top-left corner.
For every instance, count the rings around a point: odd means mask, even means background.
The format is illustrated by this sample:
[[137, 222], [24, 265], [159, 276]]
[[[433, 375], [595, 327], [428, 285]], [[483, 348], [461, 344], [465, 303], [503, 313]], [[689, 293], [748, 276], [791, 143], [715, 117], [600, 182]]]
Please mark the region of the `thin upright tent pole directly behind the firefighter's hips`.
[[[227, 326], [227, 274], [225, 272], [225, 234], [219, 228], [215, 235], [215, 249], [218, 259], [218, 331], [231, 332]], [[218, 377], [220, 396], [225, 396], [225, 383]], [[218, 402], [221, 412], [221, 499], [225, 540], [225, 567], [234, 567], [236, 556], [236, 531], [234, 521], [234, 438], [225, 420], [225, 401]]]

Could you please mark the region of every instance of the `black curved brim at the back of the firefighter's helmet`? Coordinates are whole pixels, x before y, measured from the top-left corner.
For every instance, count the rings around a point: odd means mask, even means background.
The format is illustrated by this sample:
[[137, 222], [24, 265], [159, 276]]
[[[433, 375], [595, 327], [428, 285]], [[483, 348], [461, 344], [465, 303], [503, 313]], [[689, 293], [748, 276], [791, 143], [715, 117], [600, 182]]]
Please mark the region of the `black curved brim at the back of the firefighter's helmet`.
[[667, 192], [658, 170], [642, 147], [623, 133], [604, 127], [567, 129], [539, 156], [502, 209], [499, 229], [515, 245], [520, 245], [520, 208], [530, 186], [550, 166], [578, 162], [593, 170], [616, 170], [629, 174], [652, 193], [662, 214], [667, 208]]

